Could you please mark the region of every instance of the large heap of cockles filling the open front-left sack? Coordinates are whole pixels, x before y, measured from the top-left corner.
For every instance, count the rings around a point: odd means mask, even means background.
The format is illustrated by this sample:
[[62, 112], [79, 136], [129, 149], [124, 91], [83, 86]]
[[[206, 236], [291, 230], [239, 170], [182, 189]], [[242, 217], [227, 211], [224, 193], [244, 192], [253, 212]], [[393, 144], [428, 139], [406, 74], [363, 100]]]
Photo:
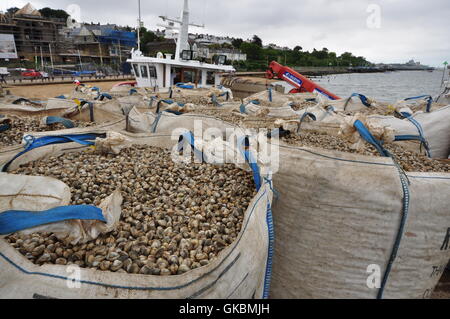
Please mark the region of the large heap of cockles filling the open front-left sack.
[[208, 265], [237, 238], [256, 194], [252, 175], [233, 164], [175, 163], [169, 151], [150, 146], [70, 153], [12, 173], [55, 177], [77, 205], [98, 205], [120, 189], [120, 225], [95, 241], [65, 244], [49, 233], [7, 240], [39, 265], [130, 274], [177, 275]]

